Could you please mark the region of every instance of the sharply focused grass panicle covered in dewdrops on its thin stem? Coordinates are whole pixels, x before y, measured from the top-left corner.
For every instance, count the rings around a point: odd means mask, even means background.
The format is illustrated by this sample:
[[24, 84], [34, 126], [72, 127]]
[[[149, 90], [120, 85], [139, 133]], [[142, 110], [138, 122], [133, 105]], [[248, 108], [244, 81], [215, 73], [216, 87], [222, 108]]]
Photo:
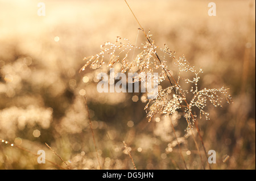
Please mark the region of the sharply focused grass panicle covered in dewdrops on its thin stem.
[[[166, 44], [164, 44], [163, 48], [159, 48], [155, 45], [150, 31], [148, 33], [144, 31], [127, 2], [126, 4], [138, 22], [139, 30], [143, 32], [146, 41], [144, 41], [141, 46], [135, 46], [131, 44], [129, 40], [117, 36], [114, 43], [105, 42], [102, 44], [101, 51], [96, 55], [85, 57], [84, 60], [87, 61], [80, 71], [85, 70], [87, 66], [91, 68], [101, 68], [101, 66], [105, 65], [111, 69], [117, 62], [121, 64], [122, 73], [131, 71], [132, 68], [137, 68], [139, 73], [143, 74], [160, 71], [157, 82], [159, 85], [158, 95], [154, 99], [148, 99], [146, 107], [144, 108], [147, 112], [148, 121], [151, 121], [156, 115], [169, 116], [176, 111], [180, 111], [183, 113], [188, 124], [185, 132], [188, 133], [195, 125], [204, 148], [205, 156], [207, 157], [204, 142], [199, 131], [200, 129], [198, 125], [195, 124], [197, 121], [196, 117], [201, 119], [202, 115], [204, 115], [205, 119], [209, 119], [209, 112], [205, 110], [209, 103], [214, 107], [222, 107], [223, 98], [225, 98], [228, 103], [232, 102], [231, 96], [228, 94], [228, 89], [220, 87], [217, 89], [204, 88], [200, 90], [199, 75], [203, 73], [203, 69], [199, 68], [197, 70], [195, 66], [189, 64], [185, 56], [176, 57], [175, 51], [171, 51]], [[137, 55], [134, 55], [135, 49], [138, 52]], [[160, 54], [163, 54], [163, 56], [160, 56]], [[106, 61], [108, 61], [108, 63], [106, 63]], [[173, 72], [174, 70], [169, 68], [171, 63], [177, 68], [176, 77], [171, 73], [171, 71]], [[192, 76], [188, 76], [188, 74]], [[139, 77], [137, 80], [142, 81], [141, 78], [142, 77]], [[151, 79], [153, 79], [153, 77], [151, 77]], [[162, 86], [160, 86], [163, 81], [170, 82], [170, 86], [163, 89]], [[187, 87], [190, 87], [190, 90], [188, 90]], [[196, 143], [194, 137], [193, 140]], [[197, 151], [200, 152], [198, 146]], [[183, 157], [183, 155], [181, 155], [181, 157]], [[185, 168], [187, 168], [186, 165]]]

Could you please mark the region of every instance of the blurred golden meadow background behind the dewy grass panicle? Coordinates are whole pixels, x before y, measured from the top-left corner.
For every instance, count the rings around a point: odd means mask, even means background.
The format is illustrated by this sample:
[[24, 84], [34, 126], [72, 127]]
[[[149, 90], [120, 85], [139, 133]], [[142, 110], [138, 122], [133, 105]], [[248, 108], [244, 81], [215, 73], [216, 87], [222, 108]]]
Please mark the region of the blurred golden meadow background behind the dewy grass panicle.
[[[200, 88], [229, 87], [234, 103], [209, 106], [210, 120], [199, 120], [217, 154], [212, 169], [255, 169], [255, 2], [216, 0], [217, 16], [208, 15], [211, 1], [127, 2], [156, 45], [204, 70]], [[133, 169], [127, 150], [137, 169], [184, 169], [170, 121], [148, 123], [143, 93], [98, 93], [97, 71], [79, 73], [105, 41], [144, 41], [138, 28], [122, 0], [0, 0], [0, 169], [67, 169], [45, 143], [71, 169]], [[188, 169], [203, 169], [183, 116], [172, 119]], [[57, 165], [39, 164], [38, 150]]]

